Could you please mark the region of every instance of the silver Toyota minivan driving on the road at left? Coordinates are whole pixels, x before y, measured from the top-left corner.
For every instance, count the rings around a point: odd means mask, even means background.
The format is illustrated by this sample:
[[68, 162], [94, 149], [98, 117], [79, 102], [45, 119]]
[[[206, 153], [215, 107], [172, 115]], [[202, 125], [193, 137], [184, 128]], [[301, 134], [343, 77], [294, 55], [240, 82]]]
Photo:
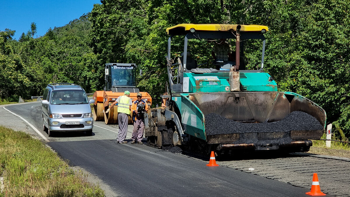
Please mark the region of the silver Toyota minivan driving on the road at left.
[[73, 83], [50, 83], [42, 100], [43, 130], [51, 137], [56, 132], [85, 131], [92, 135], [93, 118], [85, 90]]

